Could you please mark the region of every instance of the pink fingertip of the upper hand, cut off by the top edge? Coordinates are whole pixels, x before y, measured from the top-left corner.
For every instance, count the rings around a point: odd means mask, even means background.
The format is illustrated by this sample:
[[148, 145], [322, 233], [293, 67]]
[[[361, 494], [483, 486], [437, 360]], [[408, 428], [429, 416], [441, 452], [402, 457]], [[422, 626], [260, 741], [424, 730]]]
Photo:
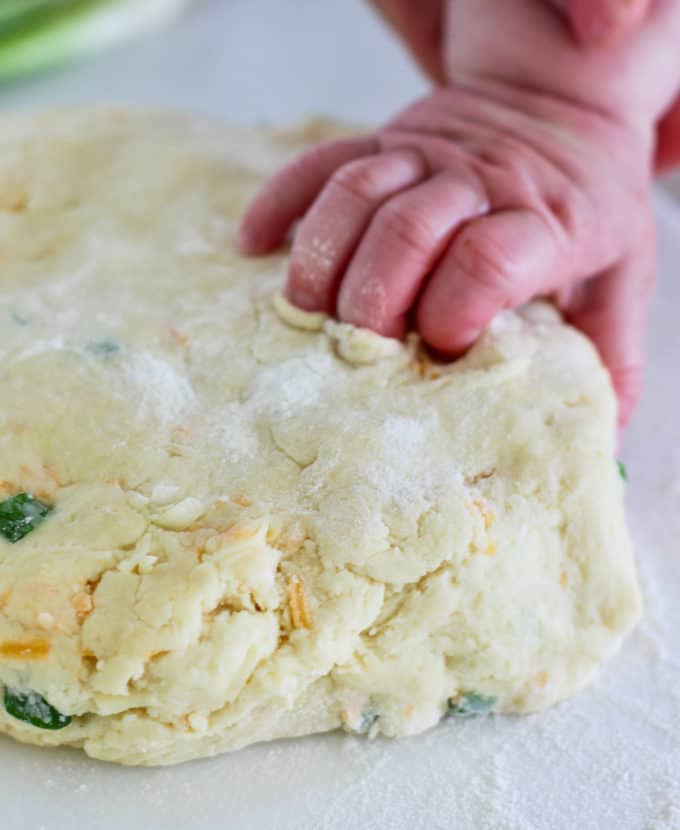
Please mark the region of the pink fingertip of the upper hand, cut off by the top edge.
[[564, 0], [572, 29], [582, 43], [603, 43], [631, 34], [645, 19], [651, 0]]

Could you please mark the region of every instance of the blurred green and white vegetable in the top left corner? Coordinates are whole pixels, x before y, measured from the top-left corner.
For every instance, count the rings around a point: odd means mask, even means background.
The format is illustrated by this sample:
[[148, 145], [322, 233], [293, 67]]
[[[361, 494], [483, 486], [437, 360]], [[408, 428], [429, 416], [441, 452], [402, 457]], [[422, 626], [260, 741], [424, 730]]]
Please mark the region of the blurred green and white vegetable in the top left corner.
[[0, 80], [159, 26], [192, 0], [0, 0]]

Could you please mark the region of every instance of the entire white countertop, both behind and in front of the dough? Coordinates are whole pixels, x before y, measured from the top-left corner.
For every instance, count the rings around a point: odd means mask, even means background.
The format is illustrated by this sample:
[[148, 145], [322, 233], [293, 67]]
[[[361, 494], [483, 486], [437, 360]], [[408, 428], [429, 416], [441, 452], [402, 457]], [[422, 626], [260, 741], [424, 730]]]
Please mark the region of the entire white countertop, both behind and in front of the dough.
[[[379, 120], [425, 89], [359, 0], [204, 0], [179, 24], [0, 89], [0, 109], [119, 102], [232, 121]], [[657, 200], [661, 275], [645, 396], [626, 438], [643, 623], [592, 689], [541, 716], [401, 742], [338, 734], [170, 769], [0, 739], [11, 830], [678, 830], [680, 210]]]

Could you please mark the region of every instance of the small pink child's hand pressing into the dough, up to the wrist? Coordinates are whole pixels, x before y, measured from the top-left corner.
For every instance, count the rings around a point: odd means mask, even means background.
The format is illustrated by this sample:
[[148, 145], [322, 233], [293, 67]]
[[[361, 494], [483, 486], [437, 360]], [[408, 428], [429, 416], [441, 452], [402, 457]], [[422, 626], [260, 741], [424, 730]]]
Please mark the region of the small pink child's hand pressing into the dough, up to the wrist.
[[[245, 252], [295, 235], [288, 297], [454, 356], [502, 309], [557, 295], [596, 342], [628, 417], [655, 270], [648, 137], [502, 83], [441, 89], [376, 133], [277, 173]], [[584, 281], [585, 280], [585, 281]]]

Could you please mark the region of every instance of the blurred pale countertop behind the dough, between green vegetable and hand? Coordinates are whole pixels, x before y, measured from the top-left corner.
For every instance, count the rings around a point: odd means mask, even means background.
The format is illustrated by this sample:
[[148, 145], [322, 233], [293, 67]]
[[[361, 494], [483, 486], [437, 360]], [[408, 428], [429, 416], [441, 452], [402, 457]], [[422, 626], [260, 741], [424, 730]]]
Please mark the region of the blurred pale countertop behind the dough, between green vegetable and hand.
[[199, 0], [174, 26], [0, 88], [0, 109], [102, 101], [231, 121], [376, 121], [427, 89], [361, 0]]

